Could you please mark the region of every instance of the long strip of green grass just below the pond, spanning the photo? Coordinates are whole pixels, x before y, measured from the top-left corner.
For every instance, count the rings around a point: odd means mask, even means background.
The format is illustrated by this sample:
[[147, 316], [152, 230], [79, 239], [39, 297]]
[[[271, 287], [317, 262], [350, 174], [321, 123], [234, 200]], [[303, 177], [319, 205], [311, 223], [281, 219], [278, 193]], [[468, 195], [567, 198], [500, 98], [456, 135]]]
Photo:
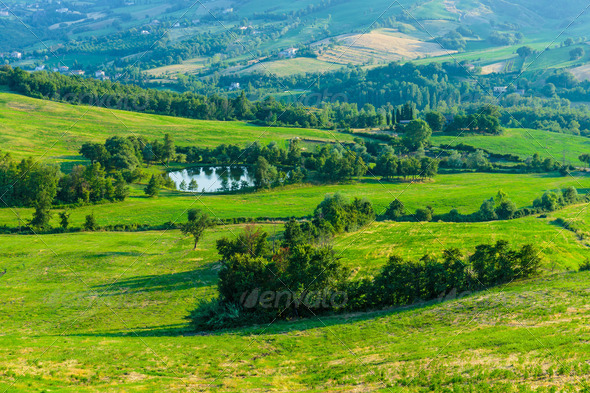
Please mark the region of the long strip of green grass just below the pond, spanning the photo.
[[[433, 182], [385, 183], [366, 179], [362, 183], [326, 186], [302, 186], [274, 189], [267, 192], [236, 195], [202, 195], [197, 197], [179, 191], [162, 191], [157, 198], [147, 198], [142, 186], [136, 186], [125, 202], [86, 206], [71, 211], [71, 222], [81, 226], [84, 217], [94, 212], [100, 225], [151, 224], [182, 222], [186, 210], [199, 208], [219, 218], [235, 217], [302, 217], [328, 193], [341, 192], [349, 197], [369, 199], [378, 213], [399, 198], [409, 211], [430, 205], [436, 213], [458, 209], [467, 214], [479, 209], [485, 199], [499, 189], [508, 193], [519, 207], [530, 206], [546, 190], [575, 186], [581, 191], [590, 188], [588, 177], [560, 177], [555, 174], [485, 174], [465, 173], [438, 175]], [[16, 226], [17, 213], [29, 219], [33, 209], [0, 209], [0, 225]], [[54, 218], [57, 225], [57, 217]]]

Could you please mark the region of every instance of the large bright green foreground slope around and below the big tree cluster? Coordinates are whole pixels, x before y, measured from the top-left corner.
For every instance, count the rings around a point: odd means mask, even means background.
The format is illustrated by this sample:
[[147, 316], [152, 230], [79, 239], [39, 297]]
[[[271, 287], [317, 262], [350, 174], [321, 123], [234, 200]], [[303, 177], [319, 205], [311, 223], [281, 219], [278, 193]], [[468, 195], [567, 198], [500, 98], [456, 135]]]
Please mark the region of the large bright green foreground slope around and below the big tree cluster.
[[237, 230], [207, 232], [195, 252], [178, 231], [2, 236], [0, 389], [571, 391], [588, 378], [588, 273], [191, 335], [184, 317], [212, 294], [214, 240]]

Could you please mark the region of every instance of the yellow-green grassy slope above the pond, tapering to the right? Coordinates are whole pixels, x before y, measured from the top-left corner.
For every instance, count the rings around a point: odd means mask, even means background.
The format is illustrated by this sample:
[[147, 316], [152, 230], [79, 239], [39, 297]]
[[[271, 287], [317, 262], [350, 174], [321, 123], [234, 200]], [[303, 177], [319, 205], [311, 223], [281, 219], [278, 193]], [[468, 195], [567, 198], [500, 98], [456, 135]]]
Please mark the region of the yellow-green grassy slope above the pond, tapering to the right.
[[[78, 160], [83, 142], [103, 142], [114, 135], [143, 136], [162, 139], [174, 136], [178, 145], [217, 146], [222, 143], [246, 145], [254, 140], [263, 143], [299, 136], [334, 140], [330, 131], [259, 127], [237, 121], [204, 121], [170, 116], [73, 106], [0, 93], [0, 146], [15, 157], [54, 157], [61, 161]], [[338, 134], [338, 140], [352, 136]]]

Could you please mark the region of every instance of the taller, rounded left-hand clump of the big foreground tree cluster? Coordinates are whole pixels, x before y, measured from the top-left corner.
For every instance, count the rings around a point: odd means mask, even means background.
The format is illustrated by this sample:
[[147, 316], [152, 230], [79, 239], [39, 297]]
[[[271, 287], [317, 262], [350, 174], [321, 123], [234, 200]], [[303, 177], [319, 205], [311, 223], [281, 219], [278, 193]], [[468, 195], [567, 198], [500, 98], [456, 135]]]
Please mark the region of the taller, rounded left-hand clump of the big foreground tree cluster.
[[217, 242], [222, 258], [219, 297], [191, 313], [195, 328], [214, 330], [312, 316], [316, 308], [312, 304], [319, 300], [321, 307], [323, 296], [330, 298], [339, 290], [346, 270], [333, 250], [300, 243], [273, 252], [267, 237], [260, 229], [246, 227], [235, 240]]

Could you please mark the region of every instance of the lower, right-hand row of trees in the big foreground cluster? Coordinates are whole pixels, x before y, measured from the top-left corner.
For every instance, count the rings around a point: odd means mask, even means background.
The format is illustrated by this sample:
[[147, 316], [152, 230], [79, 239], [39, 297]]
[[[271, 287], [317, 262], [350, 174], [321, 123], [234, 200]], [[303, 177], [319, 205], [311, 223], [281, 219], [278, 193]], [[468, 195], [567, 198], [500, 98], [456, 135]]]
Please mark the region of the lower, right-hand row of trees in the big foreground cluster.
[[360, 283], [353, 298], [362, 299], [356, 307], [401, 306], [531, 277], [540, 267], [533, 246], [514, 250], [506, 241], [478, 245], [467, 258], [456, 248], [444, 250], [442, 258], [427, 254], [412, 261], [392, 256], [372, 282]]

